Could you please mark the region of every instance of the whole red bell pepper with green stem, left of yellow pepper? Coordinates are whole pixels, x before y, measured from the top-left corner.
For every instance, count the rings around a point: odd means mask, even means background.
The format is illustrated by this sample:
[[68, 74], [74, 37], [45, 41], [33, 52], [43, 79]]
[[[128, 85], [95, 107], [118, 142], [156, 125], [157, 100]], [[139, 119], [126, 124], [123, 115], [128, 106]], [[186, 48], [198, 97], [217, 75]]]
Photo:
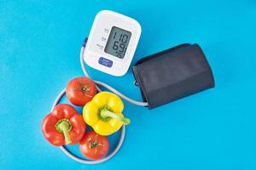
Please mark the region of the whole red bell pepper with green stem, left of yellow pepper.
[[85, 123], [73, 106], [60, 104], [44, 117], [42, 131], [44, 138], [55, 146], [76, 144], [84, 136]]

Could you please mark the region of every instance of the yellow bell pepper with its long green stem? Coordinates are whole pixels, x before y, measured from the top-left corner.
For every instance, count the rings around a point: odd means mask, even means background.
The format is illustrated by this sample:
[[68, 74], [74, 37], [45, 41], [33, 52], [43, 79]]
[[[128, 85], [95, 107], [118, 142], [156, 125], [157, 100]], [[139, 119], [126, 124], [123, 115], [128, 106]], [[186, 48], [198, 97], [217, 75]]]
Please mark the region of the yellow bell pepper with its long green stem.
[[103, 136], [115, 133], [130, 120], [122, 114], [124, 104], [116, 94], [101, 92], [84, 105], [83, 117], [86, 124]]

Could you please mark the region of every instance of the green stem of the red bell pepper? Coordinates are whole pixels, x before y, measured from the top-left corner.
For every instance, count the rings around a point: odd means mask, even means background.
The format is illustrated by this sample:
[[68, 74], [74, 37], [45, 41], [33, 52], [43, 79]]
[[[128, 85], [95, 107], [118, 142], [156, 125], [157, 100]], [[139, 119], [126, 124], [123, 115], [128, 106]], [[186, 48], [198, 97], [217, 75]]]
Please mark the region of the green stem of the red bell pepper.
[[71, 130], [72, 126], [69, 120], [61, 119], [55, 124], [55, 127], [60, 133], [64, 134], [66, 144], [70, 144], [71, 139], [69, 137], [68, 131]]

